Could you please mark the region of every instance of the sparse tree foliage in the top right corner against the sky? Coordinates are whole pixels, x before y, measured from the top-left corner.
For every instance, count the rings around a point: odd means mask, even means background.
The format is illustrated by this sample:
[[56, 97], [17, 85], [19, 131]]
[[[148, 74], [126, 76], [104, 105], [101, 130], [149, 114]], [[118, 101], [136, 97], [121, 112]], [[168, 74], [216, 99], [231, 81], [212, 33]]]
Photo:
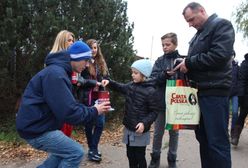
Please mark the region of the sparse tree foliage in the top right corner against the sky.
[[242, 2], [234, 13], [238, 31], [243, 32], [243, 37], [248, 37], [248, 1]]

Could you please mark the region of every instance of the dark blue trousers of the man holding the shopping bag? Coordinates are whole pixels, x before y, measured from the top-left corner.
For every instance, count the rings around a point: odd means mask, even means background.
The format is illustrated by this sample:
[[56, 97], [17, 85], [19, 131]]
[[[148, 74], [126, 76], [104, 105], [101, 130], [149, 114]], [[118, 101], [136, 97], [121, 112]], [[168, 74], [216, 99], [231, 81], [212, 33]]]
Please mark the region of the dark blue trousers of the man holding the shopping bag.
[[231, 168], [228, 139], [228, 97], [199, 97], [201, 119], [195, 131], [200, 143], [202, 168]]

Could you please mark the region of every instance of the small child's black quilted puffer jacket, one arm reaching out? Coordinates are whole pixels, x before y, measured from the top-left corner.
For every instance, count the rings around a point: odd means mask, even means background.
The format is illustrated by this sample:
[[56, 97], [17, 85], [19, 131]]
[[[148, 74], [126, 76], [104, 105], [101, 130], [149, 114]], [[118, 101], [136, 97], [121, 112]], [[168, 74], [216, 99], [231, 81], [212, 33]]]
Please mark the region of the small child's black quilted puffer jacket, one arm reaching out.
[[129, 82], [127, 84], [109, 80], [109, 86], [125, 95], [125, 113], [123, 125], [130, 131], [136, 131], [136, 125], [142, 122], [144, 132], [149, 131], [151, 124], [158, 114], [158, 97], [154, 83], [147, 80], [142, 83]]

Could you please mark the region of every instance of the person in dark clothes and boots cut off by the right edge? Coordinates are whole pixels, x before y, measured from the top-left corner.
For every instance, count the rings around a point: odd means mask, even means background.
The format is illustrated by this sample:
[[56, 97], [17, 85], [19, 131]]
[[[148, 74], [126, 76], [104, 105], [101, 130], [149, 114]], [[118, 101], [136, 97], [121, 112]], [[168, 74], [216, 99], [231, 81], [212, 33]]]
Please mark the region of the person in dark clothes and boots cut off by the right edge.
[[245, 54], [245, 60], [240, 65], [240, 90], [239, 106], [240, 113], [233, 129], [231, 143], [235, 146], [239, 143], [239, 137], [243, 130], [245, 119], [248, 114], [248, 53]]

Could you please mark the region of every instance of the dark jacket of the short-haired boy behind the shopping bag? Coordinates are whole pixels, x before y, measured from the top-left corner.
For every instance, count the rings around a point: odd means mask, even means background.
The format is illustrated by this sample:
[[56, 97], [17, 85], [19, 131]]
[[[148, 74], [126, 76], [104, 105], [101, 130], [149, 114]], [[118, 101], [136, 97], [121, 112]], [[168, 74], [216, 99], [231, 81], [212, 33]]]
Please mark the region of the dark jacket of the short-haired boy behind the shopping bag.
[[162, 55], [153, 65], [151, 78], [155, 80], [156, 87], [158, 89], [157, 96], [160, 97], [158, 101], [158, 105], [161, 107], [161, 109], [159, 109], [160, 112], [165, 112], [166, 79], [179, 79], [181, 76], [179, 75], [179, 72], [176, 76], [169, 76], [166, 73], [166, 71], [173, 69], [174, 60], [176, 58], [182, 58], [177, 50], [172, 53]]

